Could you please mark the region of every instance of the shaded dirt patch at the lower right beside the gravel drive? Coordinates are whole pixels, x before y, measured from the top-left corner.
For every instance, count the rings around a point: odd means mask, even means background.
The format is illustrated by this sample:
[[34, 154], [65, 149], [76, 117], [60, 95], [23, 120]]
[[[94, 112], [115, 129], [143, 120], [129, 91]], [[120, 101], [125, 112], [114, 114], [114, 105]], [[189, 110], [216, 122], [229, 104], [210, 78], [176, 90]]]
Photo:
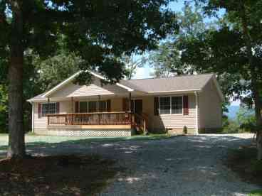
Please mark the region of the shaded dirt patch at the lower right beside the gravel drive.
[[262, 161], [256, 160], [256, 145], [230, 150], [226, 165], [248, 183], [262, 185]]

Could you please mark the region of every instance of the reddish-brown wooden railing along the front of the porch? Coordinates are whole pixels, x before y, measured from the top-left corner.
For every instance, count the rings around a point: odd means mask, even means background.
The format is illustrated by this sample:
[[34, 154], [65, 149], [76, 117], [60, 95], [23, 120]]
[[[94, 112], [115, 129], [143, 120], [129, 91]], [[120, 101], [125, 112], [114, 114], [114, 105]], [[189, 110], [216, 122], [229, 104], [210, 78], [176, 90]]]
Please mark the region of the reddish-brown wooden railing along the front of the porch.
[[48, 125], [121, 125], [132, 124], [130, 112], [48, 114]]

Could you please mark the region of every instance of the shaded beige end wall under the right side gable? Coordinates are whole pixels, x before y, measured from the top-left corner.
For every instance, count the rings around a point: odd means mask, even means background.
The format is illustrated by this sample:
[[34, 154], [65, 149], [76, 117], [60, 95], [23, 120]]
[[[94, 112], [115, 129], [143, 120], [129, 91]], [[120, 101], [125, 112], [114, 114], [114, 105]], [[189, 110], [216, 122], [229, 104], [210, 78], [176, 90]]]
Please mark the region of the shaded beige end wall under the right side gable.
[[199, 128], [220, 128], [222, 126], [221, 98], [213, 80], [199, 93]]

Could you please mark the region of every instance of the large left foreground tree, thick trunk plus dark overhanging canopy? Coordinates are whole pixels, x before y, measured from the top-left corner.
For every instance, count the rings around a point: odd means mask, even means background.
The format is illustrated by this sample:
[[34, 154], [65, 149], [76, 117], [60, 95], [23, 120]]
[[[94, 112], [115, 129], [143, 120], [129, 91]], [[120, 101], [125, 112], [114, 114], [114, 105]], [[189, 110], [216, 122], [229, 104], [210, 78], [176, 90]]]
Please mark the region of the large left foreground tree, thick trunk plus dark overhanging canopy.
[[[25, 156], [23, 132], [24, 57], [31, 50], [51, 55], [63, 34], [66, 47], [85, 60], [81, 70], [95, 69], [112, 82], [125, 73], [122, 53], [156, 48], [158, 40], [177, 28], [169, 0], [53, 0], [0, 2], [1, 58], [9, 56], [8, 157]], [[2, 55], [5, 54], [5, 55]], [[80, 75], [79, 82], [90, 76]]]

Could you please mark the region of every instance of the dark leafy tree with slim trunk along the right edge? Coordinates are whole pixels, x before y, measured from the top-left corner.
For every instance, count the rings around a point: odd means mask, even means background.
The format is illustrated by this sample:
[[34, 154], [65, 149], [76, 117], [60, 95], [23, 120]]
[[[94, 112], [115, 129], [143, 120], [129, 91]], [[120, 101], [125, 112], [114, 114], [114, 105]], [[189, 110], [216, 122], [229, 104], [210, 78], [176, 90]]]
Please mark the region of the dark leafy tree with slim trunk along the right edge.
[[[202, 1], [203, 2], [203, 1]], [[250, 92], [250, 98], [253, 99], [254, 108], [256, 111], [256, 133], [257, 133], [257, 149], [258, 149], [258, 160], [262, 160], [262, 102], [261, 102], [261, 85], [262, 85], [262, 68], [261, 68], [261, 0], [253, 1], [219, 1], [219, 0], [209, 0], [205, 1], [205, 9], [208, 13], [214, 13], [219, 9], [225, 9], [227, 13], [227, 18], [230, 25], [226, 28], [221, 28], [220, 35], [221, 38], [226, 38], [224, 40], [229, 41], [229, 36], [236, 36], [238, 44], [234, 44], [237, 48], [235, 53], [231, 52], [232, 56], [231, 62], [226, 63], [230, 72], [231, 67], [237, 67], [239, 75], [245, 80], [248, 85], [248, 91]], [[235, 39], [235, 38], [234, 38]], [[232, 43], [232, 41], [230, 42]], [[228, 43], [228, 44], [230, 44]], [[241, 45], [241, 48], [239, 46]], [[232, 47], [226, 47], [222, 49], [232, 49]], [[221, 50], [221, 49], [219, 49]], [[227, 52], [224, 50], [224, 52]], [[229, 54], [227, 54], [229, 55]], [[233, 58], [237, 56], [237, 58]], [[225, 54], [224, 54], [225, 57]], [[243, 62], [236, 62], [234, 60], [240, 60]], [[230, 67], [231, 66], [231, 67]]]

